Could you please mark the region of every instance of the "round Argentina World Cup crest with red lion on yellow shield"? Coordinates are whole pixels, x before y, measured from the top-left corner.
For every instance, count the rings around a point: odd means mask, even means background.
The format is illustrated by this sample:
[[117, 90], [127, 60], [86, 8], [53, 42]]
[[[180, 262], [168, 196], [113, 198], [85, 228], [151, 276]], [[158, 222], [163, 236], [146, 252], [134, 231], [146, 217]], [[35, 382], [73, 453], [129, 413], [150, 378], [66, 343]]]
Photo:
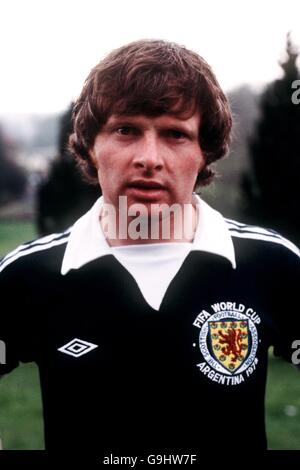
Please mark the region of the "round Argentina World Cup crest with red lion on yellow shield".
[[[228, 304], [235, 308], [229, 310]], [[214, 382], [237, 385], [256, 369], [256, 324], [260, 318], [242, 304], [221, 302], [212, 307], [216, 313], [203, 310], [194, 321], [200, 328], [199, 348], [204, 359], [197, 366]]]

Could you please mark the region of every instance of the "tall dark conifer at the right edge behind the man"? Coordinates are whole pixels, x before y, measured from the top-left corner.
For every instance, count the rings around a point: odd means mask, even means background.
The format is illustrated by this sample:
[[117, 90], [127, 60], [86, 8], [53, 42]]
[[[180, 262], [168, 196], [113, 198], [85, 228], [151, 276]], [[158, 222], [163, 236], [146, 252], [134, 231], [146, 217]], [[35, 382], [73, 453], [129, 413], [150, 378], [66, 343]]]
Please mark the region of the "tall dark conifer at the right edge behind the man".
[[282, 78], [261, 96], [260, 117], [249, 141], [252, 172], [242, 188], [251, 222], [272, 226], [295, 242], [300, 237], [300, 105], [292, 102], [292, 83], [300, 78], [298, 52], [287, 36]]

